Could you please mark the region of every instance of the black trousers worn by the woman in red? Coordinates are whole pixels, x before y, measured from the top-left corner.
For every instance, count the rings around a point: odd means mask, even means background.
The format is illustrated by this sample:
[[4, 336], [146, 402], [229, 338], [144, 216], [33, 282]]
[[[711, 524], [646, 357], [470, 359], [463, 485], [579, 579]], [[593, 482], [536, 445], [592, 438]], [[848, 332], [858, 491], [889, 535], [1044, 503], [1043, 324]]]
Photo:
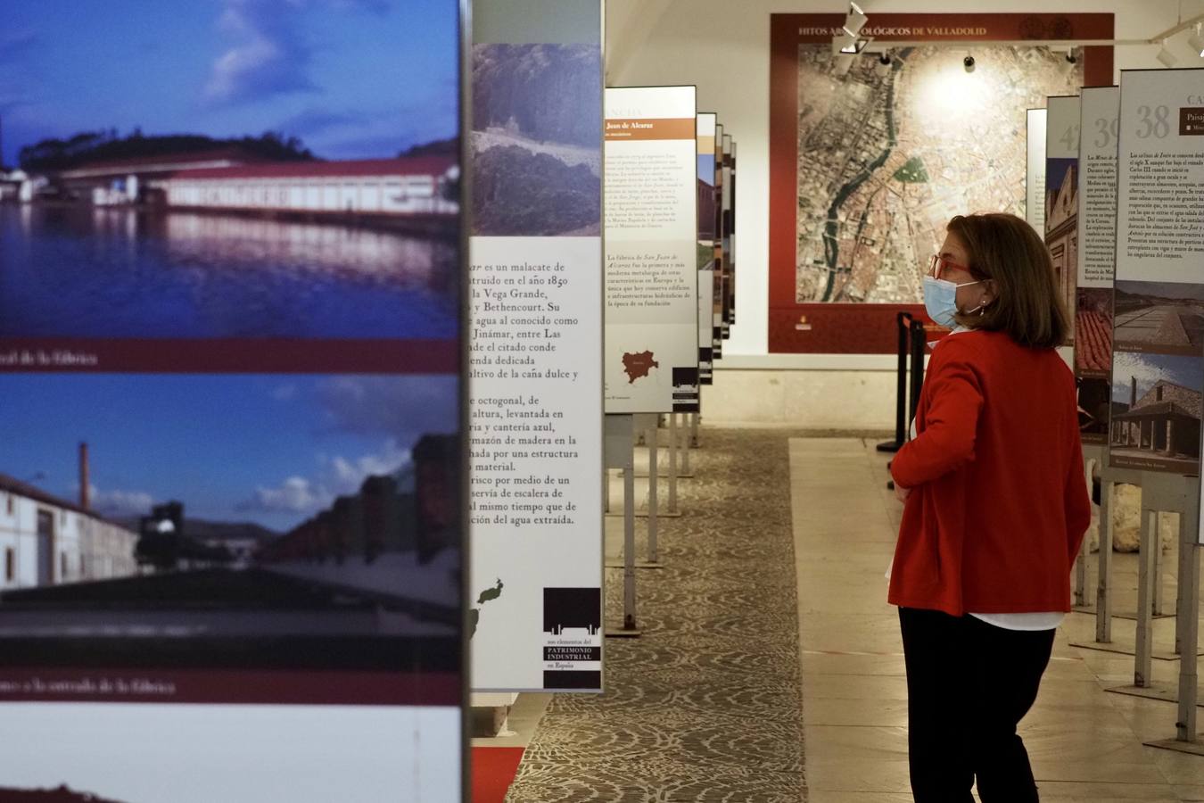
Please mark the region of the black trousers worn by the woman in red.
[[1035, 803], [1016, 733], [1040, 686], [1054, 631], [899, 608], [907, 663], [908, 763], [916, 803]]

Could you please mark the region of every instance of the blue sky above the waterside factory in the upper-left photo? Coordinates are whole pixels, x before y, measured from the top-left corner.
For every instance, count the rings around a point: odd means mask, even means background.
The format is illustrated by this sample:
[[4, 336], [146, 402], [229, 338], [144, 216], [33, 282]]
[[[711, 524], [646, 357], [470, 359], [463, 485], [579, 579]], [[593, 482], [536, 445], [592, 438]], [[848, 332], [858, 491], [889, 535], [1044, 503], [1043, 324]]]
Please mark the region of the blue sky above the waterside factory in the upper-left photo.
[[0, 155], [141, 128], [393, 157], [455, 135], [458, 41], [456, 0], [6, 2]]

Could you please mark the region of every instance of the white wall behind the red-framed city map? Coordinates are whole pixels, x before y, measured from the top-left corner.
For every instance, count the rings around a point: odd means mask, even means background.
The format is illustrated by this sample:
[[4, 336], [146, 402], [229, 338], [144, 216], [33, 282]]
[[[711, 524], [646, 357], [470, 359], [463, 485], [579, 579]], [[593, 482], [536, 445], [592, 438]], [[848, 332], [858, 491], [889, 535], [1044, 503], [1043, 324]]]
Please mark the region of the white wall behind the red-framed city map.
[[[863, 0], [861, 7], [873, 19], [875, 12], [1112, 12], [1117, 39], [1147, 39], [1179, 22], [1180, 4], [1173, 0], [1040, 0], [1033, 2], [974, 2], [932, 0]], [[737, 320], [716, 362], [715, 388], [708, 397], [722, 405], [706, 407], [708, 421], [779, 421], [784, 411], [798, 426], [834, 429], [891, 429], [895, 415], [893, 383], [867, 378], [869, 372], [893, 372], [890, 355], [768, 355], [768, 124], [769, 124], [769, 14], [844, 13], [845, 1], [798, 0], [606, 0], [607, 85], [696, 84], [698, 110], [718, 112], [725, 131], [739, 142], [737, 183]], [[1184, 18], [1204, 12], [1204, 0], [1184, 0]], [[1190, 52], [1190, 31], [1171, 40], [1181, 66], [1204, 66]], [[1117, 47], [1117, 70], [1159, 67], [1157, 46]], [[740, 355], [739, 370], [731, 355]], [[767, 368], [748, 371], [746, 368]], [[738, 371], [738, 378], [736, 372]], [[819, 371], [805, 380], [824, 385], [818, 397], [822, 408], [781, 407], [783, 396], [796, 380], [780, 372]], [[769, 384], [773, 380], [775, 384]], [[724, 390], [739, 383], [739, 392]], [[885, 397], [867, 408], [866, 392], [873, 388]], [[744, 398], [739, 409], [726, 407], [728, 398]], [[873, 401], [873, 400], [872, 400]], [[763, 403], [763, 408], [757, 405]], [[843, 415], [842, 411], [849, 411]]]

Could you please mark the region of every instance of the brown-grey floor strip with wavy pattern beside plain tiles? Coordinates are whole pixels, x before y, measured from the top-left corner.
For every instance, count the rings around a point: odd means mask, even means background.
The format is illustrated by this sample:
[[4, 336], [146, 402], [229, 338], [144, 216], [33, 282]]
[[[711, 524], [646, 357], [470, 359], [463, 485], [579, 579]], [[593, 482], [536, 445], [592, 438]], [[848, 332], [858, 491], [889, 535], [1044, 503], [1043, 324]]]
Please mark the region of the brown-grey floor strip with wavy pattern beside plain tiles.
[[661, 520], [666, 568], [639, 574], [644, 636], [607, 639], [604, 695], [553, 699], [509, 803], [805, 799], [791, 435], [703, 430], [684, 515]]

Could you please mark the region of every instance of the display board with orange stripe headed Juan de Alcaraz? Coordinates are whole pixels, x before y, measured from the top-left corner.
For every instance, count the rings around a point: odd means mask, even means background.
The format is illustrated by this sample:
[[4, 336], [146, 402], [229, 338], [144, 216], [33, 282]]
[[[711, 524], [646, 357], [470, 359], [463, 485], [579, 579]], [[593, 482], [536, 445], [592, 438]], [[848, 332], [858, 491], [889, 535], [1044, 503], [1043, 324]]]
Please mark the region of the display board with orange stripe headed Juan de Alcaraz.
[[698, 411], [694, 87], [606, 90], [606, 412]]

